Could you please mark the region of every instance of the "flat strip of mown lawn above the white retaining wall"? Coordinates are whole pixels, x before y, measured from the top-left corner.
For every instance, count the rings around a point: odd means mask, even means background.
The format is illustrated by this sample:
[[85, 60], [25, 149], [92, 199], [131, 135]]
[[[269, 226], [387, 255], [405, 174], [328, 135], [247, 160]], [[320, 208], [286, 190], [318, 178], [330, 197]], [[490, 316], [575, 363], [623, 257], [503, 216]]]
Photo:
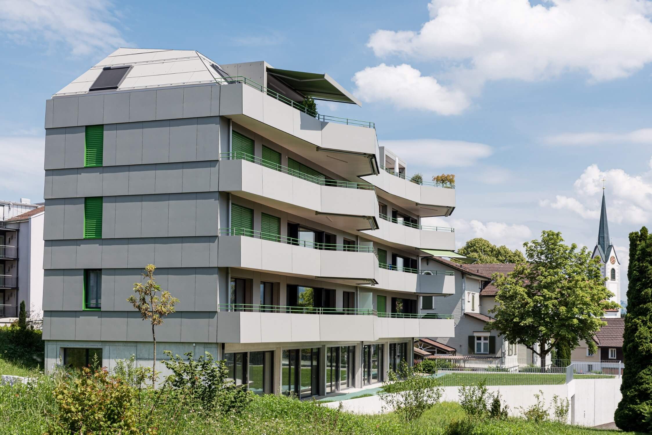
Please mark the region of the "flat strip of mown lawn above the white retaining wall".
[[[614, 378], [608, 374], [574, 374], [574, 379], [604, 379]], [[508, 385], [562, 385], [566, 383], [565, 374], [557, 373], [478, 373], [460, 372], [439, 376], [441, 384], [445, 387], [469, 386], [485, 380], [488, 386]]]

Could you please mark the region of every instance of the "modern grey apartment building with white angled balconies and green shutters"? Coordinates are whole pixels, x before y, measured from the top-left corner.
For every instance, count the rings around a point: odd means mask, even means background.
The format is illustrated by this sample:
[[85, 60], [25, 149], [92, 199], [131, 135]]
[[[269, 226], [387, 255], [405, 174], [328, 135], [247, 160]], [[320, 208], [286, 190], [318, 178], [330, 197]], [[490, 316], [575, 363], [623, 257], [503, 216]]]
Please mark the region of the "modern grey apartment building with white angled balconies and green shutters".
[[257, 393], [381, 382], [414, 337], [453, 335], [419, 298], [455, 292], [422, 251], [454, 231], [420, 224], [451, 214], [454, 186], [411, 181], [373, 122], [306, 96], [358, 104], [327, 74], [126, 48], [46, 101], [48, 369], [151, 363], [126, 302], [146, 264], [181, 300], [157, 358], [211, 352]]

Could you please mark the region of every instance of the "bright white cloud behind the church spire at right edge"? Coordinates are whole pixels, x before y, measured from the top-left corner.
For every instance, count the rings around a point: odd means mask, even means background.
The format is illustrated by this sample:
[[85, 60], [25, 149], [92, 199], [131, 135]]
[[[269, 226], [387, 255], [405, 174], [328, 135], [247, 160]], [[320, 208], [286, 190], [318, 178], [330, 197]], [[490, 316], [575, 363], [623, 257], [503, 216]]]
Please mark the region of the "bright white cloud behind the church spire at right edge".
[[557, 195], [556, 201], [543, 199], [539, 204], [570, 210], [584, 219], [598, 219], [603, 178], [606, 179], [610, 221], [640, 225], [652, 218], [652, 182], [644, 176], [629, 175], [623, 169], [600, 171], [597, 165], [587, 167], [575, 180], [576, 197]]

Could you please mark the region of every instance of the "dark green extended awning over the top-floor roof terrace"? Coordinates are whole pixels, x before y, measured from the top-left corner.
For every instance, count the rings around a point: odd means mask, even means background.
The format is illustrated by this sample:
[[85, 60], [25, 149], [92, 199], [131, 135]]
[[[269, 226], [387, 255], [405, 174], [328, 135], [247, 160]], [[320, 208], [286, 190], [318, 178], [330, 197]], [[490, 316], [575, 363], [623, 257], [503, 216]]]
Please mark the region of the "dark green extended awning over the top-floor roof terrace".
[[284, 81], [293, 89], [315, 100], [326, 100], [340, 103], [361, 105], [350, 92], [346, 91], [339, 83], [328, 74], [314, 72], [279, 70], [267, 68], [267, 74]]

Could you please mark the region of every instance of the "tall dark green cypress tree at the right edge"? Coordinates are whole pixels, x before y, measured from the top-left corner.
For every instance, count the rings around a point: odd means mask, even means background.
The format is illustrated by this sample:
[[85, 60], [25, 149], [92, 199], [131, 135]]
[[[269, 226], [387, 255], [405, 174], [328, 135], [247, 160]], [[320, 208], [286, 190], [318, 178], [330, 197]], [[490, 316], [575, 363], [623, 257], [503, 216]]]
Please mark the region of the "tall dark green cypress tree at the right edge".
[[652, 236], [647, 228], [629, 234], [629, 285], [623, 335], [623, 399], [615, 424], [648, 432], [652, 411]]

